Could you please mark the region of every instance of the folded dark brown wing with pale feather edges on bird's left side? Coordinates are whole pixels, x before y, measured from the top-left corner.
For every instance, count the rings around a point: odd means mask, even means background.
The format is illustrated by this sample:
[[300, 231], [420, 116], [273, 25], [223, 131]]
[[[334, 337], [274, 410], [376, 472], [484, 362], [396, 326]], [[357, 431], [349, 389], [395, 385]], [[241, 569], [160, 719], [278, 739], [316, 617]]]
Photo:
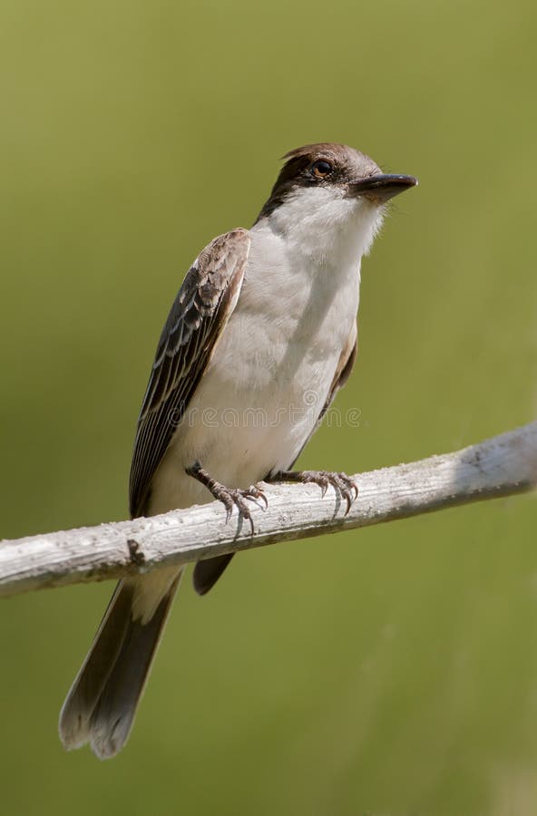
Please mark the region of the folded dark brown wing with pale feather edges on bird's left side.
[[129, 495], [142, 515], [151, 479], [237, 303], [249, 254], [247, 229], [215, 238], [190, 267], [162, 330], [136, 429]]

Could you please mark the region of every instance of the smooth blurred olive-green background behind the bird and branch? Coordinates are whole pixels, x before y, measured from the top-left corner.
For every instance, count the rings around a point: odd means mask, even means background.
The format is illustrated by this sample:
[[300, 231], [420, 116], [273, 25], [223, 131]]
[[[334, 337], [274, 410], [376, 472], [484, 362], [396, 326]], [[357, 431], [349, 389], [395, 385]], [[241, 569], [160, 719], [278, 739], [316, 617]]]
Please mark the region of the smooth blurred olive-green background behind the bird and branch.
[[[453, 450], [537, 407], [534, 3], [4, 0], [0, 534], [125, 518], [164, 317], [278, 156], [420, 187], [363, 267], [360, 355], [306, 466]], [[57, 714], [112, 585], [2, 604], [5, 813], [537, 812], [533, 497], [252, 551], [176, 603], [127, 749]]]

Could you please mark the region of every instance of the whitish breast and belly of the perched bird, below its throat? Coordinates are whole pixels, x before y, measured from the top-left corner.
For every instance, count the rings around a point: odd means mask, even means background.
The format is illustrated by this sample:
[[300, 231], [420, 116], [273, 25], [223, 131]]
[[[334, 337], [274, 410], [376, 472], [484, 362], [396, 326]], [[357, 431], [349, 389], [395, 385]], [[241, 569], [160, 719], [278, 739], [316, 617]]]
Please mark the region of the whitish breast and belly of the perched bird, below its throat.
[[184, 473], [194, 461], [247, 488], [287, 469], [313, 431], [356, 331], [364, 236], [343, 230], [337, 252], [310, 255], [299, 220], [294, 236], [273, 219], [250, 230], [238, 304], [155, 473], [151, 514], [210, 500]]

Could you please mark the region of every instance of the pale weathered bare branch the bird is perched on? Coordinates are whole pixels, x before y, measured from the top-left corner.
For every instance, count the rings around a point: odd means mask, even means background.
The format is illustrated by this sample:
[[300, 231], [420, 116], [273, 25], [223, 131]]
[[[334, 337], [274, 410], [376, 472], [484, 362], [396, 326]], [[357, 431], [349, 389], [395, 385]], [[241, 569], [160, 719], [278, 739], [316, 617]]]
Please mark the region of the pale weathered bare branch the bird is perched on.
[[423, 461], [356, 476], [360, 494], [347, 516], [334, 492], [315, 485], [267, 488], [254, 508], [255, 533], [220, 502], [150, 519], [70, 529], [0, 542], [0, 596], [81, 581], [120, 578], [225, 552], [405, 519], [537, 486], [537, 423]]

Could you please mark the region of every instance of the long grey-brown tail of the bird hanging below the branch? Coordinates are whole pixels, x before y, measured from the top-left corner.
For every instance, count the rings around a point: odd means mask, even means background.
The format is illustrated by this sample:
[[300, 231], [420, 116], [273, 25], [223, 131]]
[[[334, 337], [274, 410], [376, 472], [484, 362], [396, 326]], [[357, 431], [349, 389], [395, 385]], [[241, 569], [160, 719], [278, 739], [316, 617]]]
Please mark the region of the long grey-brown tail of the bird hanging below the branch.
[[85, 743], [99, 759], [121, 751], [180, 579], [181, 570], [163, 568], [115, 588], [60, 713], [68, 751]]

